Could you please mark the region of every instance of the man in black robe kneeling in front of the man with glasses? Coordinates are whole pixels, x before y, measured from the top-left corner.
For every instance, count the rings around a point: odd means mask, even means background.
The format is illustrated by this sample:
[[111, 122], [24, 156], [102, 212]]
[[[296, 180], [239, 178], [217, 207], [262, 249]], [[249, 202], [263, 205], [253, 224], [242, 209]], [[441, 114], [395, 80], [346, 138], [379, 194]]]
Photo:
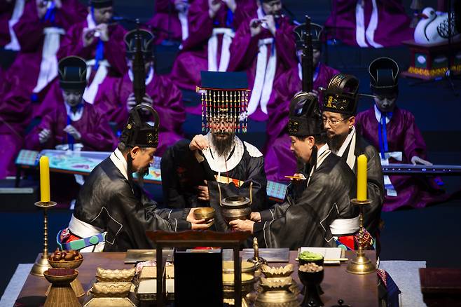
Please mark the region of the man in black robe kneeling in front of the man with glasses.
[[326, 144], [314, 96], [301, 92], [291, 100], [289, 135], [291, 151], [306, 163], [304, 174], [296, 174], [296, 195], [269, 210], [252, 212], [251, 220], [230, 225], [251, 231], [263, 247], [334, 247], [331, 224], [340, 232], [335, 236], [358, 230], [358, 212], [350, 203], [357, 183], [352, 170]]

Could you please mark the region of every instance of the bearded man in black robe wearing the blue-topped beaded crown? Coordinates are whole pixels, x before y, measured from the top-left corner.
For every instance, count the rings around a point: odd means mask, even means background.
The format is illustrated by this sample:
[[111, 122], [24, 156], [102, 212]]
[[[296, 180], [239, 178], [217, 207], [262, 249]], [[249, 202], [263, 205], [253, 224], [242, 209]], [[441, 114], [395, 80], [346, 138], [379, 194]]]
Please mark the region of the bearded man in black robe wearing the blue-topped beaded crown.
[[219, 184], [222, 198], [251, 194], [252, 209], [265, 209], [263, 154], [235, 135], [247, 131], [247, 88], [245, 73], [202, 71], [202, 130], [207, 134], [179, 141], [163, 154], [163, 198], [168, 206], [208, 206], [210, 194], [215, 196], [211, 201], [218, 202]]

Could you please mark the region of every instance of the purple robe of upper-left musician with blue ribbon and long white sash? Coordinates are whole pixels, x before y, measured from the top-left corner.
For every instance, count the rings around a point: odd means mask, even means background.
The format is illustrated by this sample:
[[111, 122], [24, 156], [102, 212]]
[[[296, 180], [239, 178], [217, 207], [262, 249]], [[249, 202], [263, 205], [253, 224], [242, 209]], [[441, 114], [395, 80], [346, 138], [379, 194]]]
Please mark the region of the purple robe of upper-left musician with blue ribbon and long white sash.
[[[21, 46], [20, 53], [16, 56], [11, 67], [4, 72], [4, 82], [11, 83], [11, 80], [18, 78], [21, 87], [28, 93], [36, 87], [39, 79], [42, 61], [43, 43], [45, 35], [43, 30], [47, 27], [60, 27], [65, 31], [80, 22], [86, 15], [85, 6], [78, 0], [62, 1], [62, 8], [57, 9], [54, 22], [50, 20], [39, 20], [35, 1], [27, 1], [22, 17], [13, 27]], [[62, 36], [61, 36], [62, 39]], [[36, 93], [37, 100], [41, 101], [46, 95], [48, 86]]]

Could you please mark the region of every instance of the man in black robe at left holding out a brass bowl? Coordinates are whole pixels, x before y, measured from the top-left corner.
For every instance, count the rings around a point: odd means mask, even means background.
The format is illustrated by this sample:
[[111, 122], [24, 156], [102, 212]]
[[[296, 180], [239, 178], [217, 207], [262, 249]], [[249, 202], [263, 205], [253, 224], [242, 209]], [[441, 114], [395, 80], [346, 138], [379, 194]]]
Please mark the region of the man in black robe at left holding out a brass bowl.
[[[155, 125], [142, 118], [147, 109]], [[66, 250], [123, 252], [151, 249], [147, 230], [181, 231], [205, 229], [193, 218], [193, 210], [157, 209], [142, 188], [132, 180], [149, 171], [158, 146], [158, 114], [142, 104], [130, 111], [118, 148], [99, 163], [83, 184], [69, 228], [61, 231], [58, 244]]]

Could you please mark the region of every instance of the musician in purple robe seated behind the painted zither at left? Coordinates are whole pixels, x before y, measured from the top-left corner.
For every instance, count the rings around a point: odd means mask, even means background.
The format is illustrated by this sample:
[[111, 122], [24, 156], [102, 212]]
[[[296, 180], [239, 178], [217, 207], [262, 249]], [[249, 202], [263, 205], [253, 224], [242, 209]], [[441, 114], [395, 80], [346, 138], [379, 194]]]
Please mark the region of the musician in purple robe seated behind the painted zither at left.
[[53, 111], [26, 137], [27, 149], [111, 151], [117, 139], [106, 116], [82, 99], [86, 86], [85, 60], [64, 57], [59, 62], [62, 95]]

